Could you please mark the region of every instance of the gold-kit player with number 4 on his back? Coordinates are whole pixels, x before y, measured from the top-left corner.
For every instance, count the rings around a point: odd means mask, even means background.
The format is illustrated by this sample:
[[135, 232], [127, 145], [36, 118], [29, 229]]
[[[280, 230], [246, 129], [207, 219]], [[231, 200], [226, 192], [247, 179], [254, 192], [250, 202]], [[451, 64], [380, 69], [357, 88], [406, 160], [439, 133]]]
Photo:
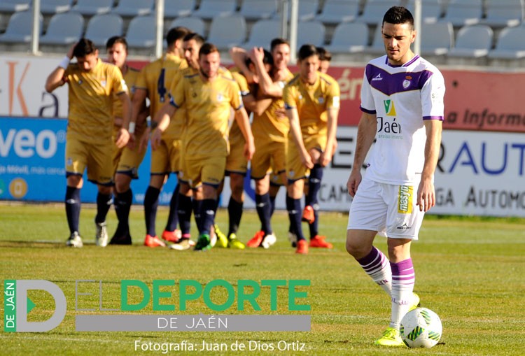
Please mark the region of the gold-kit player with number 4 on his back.
[[[150, 100], [151, 118], [155, 117], [155, 114], [163, 104], [169, 102], [169, 87], [172, 85], [172, 80], [176, 72], [179, 71], [183, 61], [183, 38], [189, 33], [190, 30], [186, 27], [170, 29], [166, 36], [166, 54], [162, 58], [147, 64], [142, 69], [133, 97], [134, 115], [135, 112], [139, 111], [146, 97]], [[166, 243], [158, 238], [155, 232], [155, 220], [157, 218], [160, 190], [162, 190], [162, 186], [170, 173], [179, 172], [181, 131], [181, 122], [174, 120], [163, 134], [161, 143], [151, 152], [150, 183], [144, 195], [144, 218], [146, 220], [144, 245], [149, 247], [166, 246]], [[146, 140], [143, 140], [143, 143], [147, 143], [150, 132], [150, 128], [146, 129], [146, 136], [144, 136]], [[143, 144], [141, 146], [144, 148]], [[181, 237], [181, 231], [176, 229], [179, 222], [178, 203], [179, 183], [177, 183], [172, 200], [169, 203], [168, 221], [164, 232], [162, 232], [162, 238], [165, 241], [176, 242]]]

